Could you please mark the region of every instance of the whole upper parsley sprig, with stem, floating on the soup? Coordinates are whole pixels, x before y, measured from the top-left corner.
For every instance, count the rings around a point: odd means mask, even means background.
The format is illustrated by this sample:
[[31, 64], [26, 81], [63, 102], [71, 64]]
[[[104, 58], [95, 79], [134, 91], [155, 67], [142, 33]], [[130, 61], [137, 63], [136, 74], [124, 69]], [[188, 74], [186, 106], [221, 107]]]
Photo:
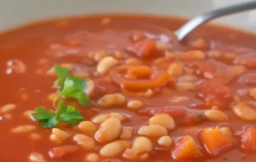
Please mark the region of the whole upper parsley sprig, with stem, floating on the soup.
[[89, 104], [90, 99], [84, 92], [88, 79], [72, 76], [66, 67], [55, 65], [54, 68], [58, 76], [57, 88], [60, 92], [58, 93], [58, 96], [55, 97], [53, 104], [55, 104], [56, 100], [61, 96], [74, 98], [84, 105]]

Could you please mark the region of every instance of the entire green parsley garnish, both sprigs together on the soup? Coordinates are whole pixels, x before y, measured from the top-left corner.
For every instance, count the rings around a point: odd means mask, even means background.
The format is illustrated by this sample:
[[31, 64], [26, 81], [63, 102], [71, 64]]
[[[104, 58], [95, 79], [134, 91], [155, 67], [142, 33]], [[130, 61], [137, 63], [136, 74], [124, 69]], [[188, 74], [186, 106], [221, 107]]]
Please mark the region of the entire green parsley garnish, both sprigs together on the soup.
[[[58, 77], [55, 88], [59, 90], [59, 93], [54, 98], [53, 105], [61, 96], [76, 99], [84, 105], [90, 103], [90, 99], [84, 91], [88, 79], [72, 76], [66, 67], [55, 65], [54, 70]], [[35, 113], [32, 115], [44, 128], [54, 127], [60, 121], [65, 121], [73, 126], [84, 119], [75, 107], [64, 104], [63, 100], [58, 102], [58, 109], [56, 111], [52, 109], [47, 111], [44, 107], [35, 107]]]

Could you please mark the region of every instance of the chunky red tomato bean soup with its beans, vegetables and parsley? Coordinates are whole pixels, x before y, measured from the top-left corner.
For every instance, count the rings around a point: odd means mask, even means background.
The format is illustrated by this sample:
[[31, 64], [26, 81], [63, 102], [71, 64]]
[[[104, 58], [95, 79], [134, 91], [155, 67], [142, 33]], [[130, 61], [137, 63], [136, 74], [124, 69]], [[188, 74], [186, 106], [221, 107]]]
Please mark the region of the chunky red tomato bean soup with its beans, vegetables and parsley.
[[254, 162], [256, 37], [97, 15], [0, 35], [1, 162]]

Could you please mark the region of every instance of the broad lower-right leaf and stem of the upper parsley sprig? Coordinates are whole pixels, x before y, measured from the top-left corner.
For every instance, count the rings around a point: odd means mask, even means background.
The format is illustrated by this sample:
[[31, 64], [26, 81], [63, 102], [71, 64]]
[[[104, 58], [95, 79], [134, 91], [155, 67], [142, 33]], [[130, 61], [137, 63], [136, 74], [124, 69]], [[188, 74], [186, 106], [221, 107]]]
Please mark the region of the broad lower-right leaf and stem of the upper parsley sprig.
[[54, 98], [53, 104], [57, 101], [61, 96], [74, 98], [84, 105], [90, 103], [90, 99], [84, 92], [88, 79], [81, 79], [78, 76], [66, 78], [64, 82], [63, 89], [58, 93], [58, 95]]

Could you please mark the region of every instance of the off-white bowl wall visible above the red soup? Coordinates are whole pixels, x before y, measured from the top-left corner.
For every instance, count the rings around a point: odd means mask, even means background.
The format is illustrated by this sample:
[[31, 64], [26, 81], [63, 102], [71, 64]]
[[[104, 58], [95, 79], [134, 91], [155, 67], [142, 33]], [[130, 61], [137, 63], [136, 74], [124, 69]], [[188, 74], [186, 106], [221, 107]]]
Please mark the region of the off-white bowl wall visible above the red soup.
[[[226, 5], [250, 0], [0, 0], [0, 31], [28, 22], [104, 12], [150, 13], [193, 17]], [[256, 10], [215, 22], [256, 31]]]

